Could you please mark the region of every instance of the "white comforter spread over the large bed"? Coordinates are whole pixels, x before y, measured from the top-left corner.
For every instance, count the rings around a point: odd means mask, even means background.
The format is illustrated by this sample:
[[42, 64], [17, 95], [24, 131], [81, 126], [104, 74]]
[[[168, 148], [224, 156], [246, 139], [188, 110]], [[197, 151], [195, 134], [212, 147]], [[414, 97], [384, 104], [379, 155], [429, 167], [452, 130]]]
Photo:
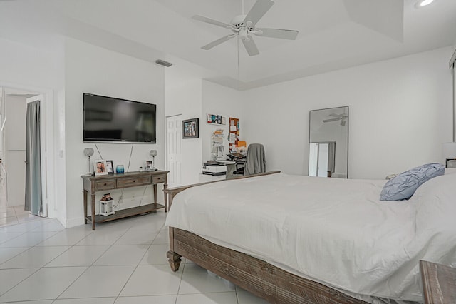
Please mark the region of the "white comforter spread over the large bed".
[[175, 196], [165, 225], [364, 300], [418, 301], [420, 259], [456, 265], [456, 174], [408, 201], [379, 201], [384, 184], [286, 174], [212, 183]]

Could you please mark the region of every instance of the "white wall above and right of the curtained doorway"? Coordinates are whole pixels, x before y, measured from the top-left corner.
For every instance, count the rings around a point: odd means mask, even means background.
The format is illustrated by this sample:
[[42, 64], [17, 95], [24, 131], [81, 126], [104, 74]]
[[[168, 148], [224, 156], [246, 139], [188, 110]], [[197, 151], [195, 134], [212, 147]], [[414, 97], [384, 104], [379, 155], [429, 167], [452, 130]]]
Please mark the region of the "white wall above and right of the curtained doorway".
[[14, 41], [0, 38], [0, 86], [30, 89], [46, 93], [50, 98], [43, 105], [46, 111], [46, 152], [48, 191], [48, 216], [63, 222], [65, 196], [58, 189], [65, 188], [65, 168], [62, 157], [64, 137], [61, 133], [62, 120], [58, 117], [56, 105], [63, 102], [58, 92], [63, 91], [65, 83], [63, 66], [63, 45], [53, 44], [48, 49], [36, 49]]

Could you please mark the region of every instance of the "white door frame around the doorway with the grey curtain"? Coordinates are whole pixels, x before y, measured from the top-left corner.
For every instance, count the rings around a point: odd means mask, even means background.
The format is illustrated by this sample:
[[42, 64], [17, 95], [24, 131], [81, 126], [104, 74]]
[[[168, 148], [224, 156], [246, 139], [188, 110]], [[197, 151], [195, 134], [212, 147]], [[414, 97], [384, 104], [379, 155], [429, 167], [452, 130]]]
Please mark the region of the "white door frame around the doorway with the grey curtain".
[[[41, 176], [44, 179], [41, 181], [41, 193], [43, 195], [43, 210], [45, 210], [48, 217], [56, 218], [57, 206], [56, 206], [56, 192], [53, 185], [56, 185], [56, 177], [54, 171], [54, 136], [53, 136], [53, 108], [54, 108], [54, 93], [50, 88], [39, 88], [35, 86], [24, 86], [18, 83], [9, 83], [0, 81], [0, 86], [5, 89], [23, 90], [38, 93], [43, 96], [40, 102], [41, 114], [40, 114], [40, 125], [41, 125]], [[2, 101], [3, 102], [3, 101]], [[24, 116], [26, 113], [24, 113]], [[7, 119], [7, 118], [5, 118]], [[24, 181], [25, 187], [25, 181]]]

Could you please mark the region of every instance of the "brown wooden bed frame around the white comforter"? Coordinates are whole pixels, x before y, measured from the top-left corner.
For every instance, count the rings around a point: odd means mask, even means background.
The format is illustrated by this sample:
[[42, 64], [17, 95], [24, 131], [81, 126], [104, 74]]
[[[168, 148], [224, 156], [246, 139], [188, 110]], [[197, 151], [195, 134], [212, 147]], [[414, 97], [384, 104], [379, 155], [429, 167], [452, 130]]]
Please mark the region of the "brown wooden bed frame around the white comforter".
[[[280, 171], [260, 173], [253, 176], [274, 173], [280, 173]], [[249, 177], [252, 176], [240, 178]], [[217, 182], [220, 181], [209, 183]], [[171, 206], [172, 199], [180, 191], [203, 184], [207, 183], [164, 190], [168, 195], [168, 203]], [[172, 271], [179, 270], [181, 257], [187, 258], [254, 295], [264, 298], [269, 303], [366, 303], [321, 283], [288, 273], [245, 253], [216, 245], [188, 231], [170, 227], [170, 250], [167, 252], [167, 258]]]

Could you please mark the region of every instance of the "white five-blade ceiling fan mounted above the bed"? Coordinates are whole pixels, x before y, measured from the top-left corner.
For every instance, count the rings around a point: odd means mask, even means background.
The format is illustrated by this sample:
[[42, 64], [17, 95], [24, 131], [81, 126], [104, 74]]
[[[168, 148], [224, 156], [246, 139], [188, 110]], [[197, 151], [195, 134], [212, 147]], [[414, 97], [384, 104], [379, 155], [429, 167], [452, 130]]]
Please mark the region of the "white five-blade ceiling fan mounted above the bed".
[[211, 43], [206, 44], [205, 46], [202, 46], [201, 49], [212, 49], [214, 46], [218, 46], [219, 44], [222, 44], [225, 41], [234, 38], [235, 36], [239, 36], [249, 56], [255, 56], [259, 54], [259, 51], [257, 48], [257, 44], [255, 44], [251, 34], [254, 34], [256, 36], [264, 36], [279, 39], [296, 39], [296, 36], [298, 36], [299, 31], [292, 31], [289, 29], [268, 29], [256, 27], [259, 19], [261, 19], [261, 17], [264, 16], [264, 14], [266, 14], [266, 12], [269, 11], [269, 9], [271, 9], [271, 6], [273, 5], [274, 1], [271, 0], [257, 0], [252, 9], [250, 9], [249, 13], [247, 13], [247, 15], [242, 14], [239, 16], [234, 16], [234, 18], [230, 21], [229, 24], [214, 19], [210, 19], [204, 16], [192, 16], [192, 18], [195, 20], [203, 21], [208, 24], [213, 24], [215, 26], [222, 26], [226, 29], [230, 29], [233, 32], [232, 34], [229, 34], [220, 39], [212, 41]]

